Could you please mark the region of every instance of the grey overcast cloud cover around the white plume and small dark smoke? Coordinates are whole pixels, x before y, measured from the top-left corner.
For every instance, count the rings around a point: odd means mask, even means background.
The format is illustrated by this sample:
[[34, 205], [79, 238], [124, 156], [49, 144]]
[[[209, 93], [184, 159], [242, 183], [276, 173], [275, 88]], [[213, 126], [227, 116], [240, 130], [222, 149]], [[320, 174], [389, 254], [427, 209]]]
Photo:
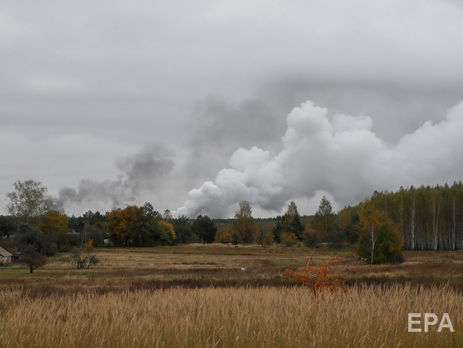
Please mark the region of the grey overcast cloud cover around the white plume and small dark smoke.
[[[160, 142], [177, 156], [158, 204], [179, 206], [236, 148], [279, 153], [282, 115], [307, 99], [396, 144], [462, 99], [462, 31], [456, 1], [2, 1], [0, 130], [18, 137], [0, 147], [27, 141], [3, 150], [0, 194], [17, 176], [104, 182], [121, 149]], [[76, 166], [60, 137], [113, 145]]]

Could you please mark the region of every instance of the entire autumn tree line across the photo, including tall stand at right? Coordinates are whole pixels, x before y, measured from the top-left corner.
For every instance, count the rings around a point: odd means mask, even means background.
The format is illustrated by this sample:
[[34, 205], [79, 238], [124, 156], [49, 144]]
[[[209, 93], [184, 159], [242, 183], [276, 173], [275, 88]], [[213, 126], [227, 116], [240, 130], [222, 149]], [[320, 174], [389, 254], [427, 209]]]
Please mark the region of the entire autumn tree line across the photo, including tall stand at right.
[[463, 184], [375, 192], [337, 214], [323, 197], [313, 216], [301, 216], [291, 202], [282, 216], [254, 219], [251, 204], [239, 203], [233, 219], [173, 217], [151, 203], [104, 214], [67, 216], [53, 209], [47, 189], [18, 181], [7, 195], [8, 216], [0, 216], [0, 245], [21, 254], [33, 271], [44, 256], [88, 245], [143, 247], [179, 243], [257, 243], [291, 247], [356, 248], [369, 263], [399, 262], [400, 250], [456, 250], [463, 247]]

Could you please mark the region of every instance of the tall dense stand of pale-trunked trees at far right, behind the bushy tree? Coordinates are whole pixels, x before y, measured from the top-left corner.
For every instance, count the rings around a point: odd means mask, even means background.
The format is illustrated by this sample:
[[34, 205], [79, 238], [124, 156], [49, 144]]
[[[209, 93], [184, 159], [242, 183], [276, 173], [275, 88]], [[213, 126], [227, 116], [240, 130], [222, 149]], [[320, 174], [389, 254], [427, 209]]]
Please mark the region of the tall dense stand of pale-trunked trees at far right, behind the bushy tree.
[[[463, 183], [453, 185], [401, 187], [396, 192], [375, 192], [338, 216], [352, 228], [362, 207], [383, 212], [398, 227], [404, 249], [457, 250], [463, 248]], [[351, 220], [351, 221], [349, 221]]]

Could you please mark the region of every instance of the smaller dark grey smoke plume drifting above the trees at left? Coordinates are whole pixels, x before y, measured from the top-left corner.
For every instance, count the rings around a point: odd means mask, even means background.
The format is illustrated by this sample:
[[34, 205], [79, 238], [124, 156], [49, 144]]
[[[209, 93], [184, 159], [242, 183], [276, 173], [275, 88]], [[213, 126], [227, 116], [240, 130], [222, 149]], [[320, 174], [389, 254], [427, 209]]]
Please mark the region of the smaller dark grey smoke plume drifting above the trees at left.
[[154, 191], [160, 179], [172, 170], [174, 162], [169, 150], [162, 146], [146, 147], [143, 151], [119, 158], [120, 174], [115, 180], [83, 179], [76, 188], [64, 187], [54, 198], [56, 208], [76, 206], [108, 206], [118, 208], [134, 202], [141, 193]]

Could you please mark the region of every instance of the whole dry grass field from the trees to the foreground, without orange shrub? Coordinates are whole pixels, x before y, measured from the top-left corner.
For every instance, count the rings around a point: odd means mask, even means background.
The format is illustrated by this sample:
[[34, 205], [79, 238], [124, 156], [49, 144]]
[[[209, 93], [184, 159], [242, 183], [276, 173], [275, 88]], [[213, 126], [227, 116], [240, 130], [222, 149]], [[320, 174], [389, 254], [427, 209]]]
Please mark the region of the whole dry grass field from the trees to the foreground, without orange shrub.
[[[463, 253], [405, 252], [365, 265], [352, 250], [188, 245], [69, 254], [33, 274], [0, 268], [0, 345], [11, 347], [438, 347], [463, 342]], [[315, 297], [282, 279], [337, 254], [346, 284]], [[242, 271], [241, 268], [246, 270]], [[454, 333], [408, 333], [408, 312], [449, 313]]]

